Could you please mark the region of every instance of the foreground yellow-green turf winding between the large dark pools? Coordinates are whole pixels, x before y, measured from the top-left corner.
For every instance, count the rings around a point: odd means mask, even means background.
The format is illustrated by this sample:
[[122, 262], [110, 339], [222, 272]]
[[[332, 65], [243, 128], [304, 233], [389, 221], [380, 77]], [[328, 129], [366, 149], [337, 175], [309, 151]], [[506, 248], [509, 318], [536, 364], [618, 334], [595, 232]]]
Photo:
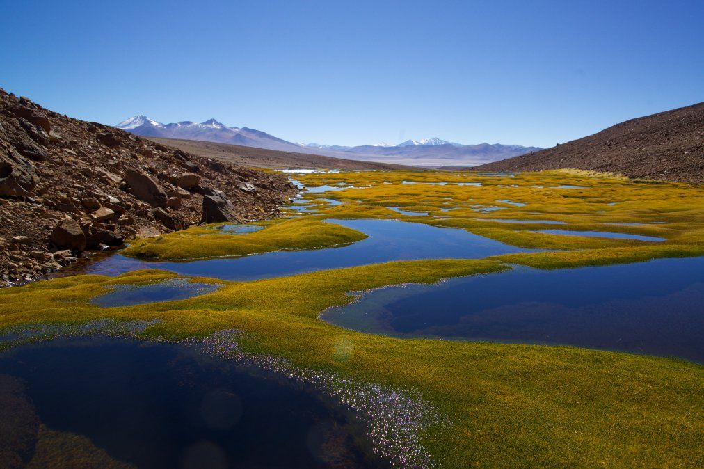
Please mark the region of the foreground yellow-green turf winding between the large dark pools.
[[[225, 287], [195, 299], [99, 308], [115, 282], [172, 277], [158, 270], [68, 277], [0, 292], [0, 325], [158, 318], [149, 334], [249, 332], [248, 351], [289, 358], [422, 395], [453, 420], [422, 443], [448, 468], [467, 465], [686, 466], [702, 463], [704, 368], [686, 361], [534, 346], [394, 339], [318, 320], [346, 292], [400, 282], [492, 273], [497, 261], [409, 261], [327, 270]], [[202, 280], [202, 279], [201, 279]], [[340, 360], [334, 343], [346, 339]]]

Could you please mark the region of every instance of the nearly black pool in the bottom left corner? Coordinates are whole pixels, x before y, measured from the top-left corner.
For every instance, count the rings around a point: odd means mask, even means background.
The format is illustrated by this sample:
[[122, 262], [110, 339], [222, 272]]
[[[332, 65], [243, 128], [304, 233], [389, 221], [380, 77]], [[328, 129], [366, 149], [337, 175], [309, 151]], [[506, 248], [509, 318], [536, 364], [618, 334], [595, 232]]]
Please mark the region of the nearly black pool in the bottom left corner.
[[4, 454], [25, 463], [43, 425], [60, 433], [42, 453], [86, 462], [105, 451], [144, 468], [386, 467], [362, 423], [315, 389], [192, 346], [106, 337], [21, 346], [0, 354], [0, 392], [13, 403], [1, 426], [18, 437]]

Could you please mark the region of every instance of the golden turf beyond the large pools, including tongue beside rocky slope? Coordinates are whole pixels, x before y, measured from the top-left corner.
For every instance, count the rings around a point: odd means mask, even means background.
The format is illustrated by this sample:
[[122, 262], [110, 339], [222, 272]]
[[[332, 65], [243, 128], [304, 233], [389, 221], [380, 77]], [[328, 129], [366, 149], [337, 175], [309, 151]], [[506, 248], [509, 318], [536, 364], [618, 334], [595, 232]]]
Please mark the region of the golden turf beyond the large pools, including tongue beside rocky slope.
[[[313, 213], [265, 223], [265, 229], [246, 234], [222, 234], [214, 227], [194, 227], [156, 239], [139, 239], [124, 252], [127, 256], [147, 256], [164, 260], [239, 256], [279, 249], [311, 249], [363, 239], [364, 235], [339, 225], [322, 223], [329, 218], [395, 218], [441, 227], [455, 227], [476, 235], [529, 249], [580, 251], [570, 259], [586, 265], [608, 258], [623, 262], [624, 253], [636, 249], [634, 259], [665, 256], [698, 256], [704, 249], [704, 189], [669, 182], [637, 182], [610, 174], [580, 170], [521, 173], [513, 177], [470, 172], [341, 172], [296, 175], [309, 186], [340, 182], [354, 188], [324, 194], [303, 194]], [[406, 184], [403, 182], [413, 182]], [[446, 185], [439, 185], [446, 183]], [[458, 185], [482, 184], [482, 186]], [[562, 185], [583, 187], [560, 189]], [[363, 187], [363, 188], [360, 188]], [[331, 206], [323, 198], [337, 199]], [[515, 206], [504, 201], [526, 204]], [[610, 205], [614, 204], [614, 205]], [[401, 215], [389, 206], [425, 216]], [[482, 213], [486, 207], [501, 210]], [[451, 211], [442, 211], [452, 208]], [[501, 223], [496, 219], [522, 220]], [[541, 220], [562, 225], [535, 223]], [[628, 223], [636, 225], [613, 225]], [[540, 230], [622, 232], [665, 238], [648, 242], [608, 237], [551, 235]], [[607, 255], [603, 249], [616, 249]], [[528, 265], [565, 266], [547, 262], [551, 256], [528, 258]], [[581, 260], [577, 262], [577, 258]], [[572, 262], [570, 261], [570, 262]]]

